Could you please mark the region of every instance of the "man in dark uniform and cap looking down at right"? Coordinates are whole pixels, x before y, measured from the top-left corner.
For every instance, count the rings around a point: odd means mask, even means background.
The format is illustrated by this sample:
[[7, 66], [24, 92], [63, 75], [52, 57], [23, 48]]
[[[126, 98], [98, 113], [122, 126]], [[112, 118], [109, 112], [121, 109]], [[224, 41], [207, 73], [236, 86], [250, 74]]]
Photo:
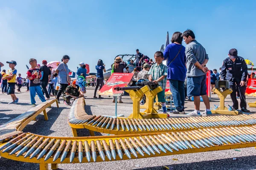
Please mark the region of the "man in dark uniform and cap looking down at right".
[[224, 59], [223, 65], [221, 67], [221, 79], [228, 80], [230, 88], [233, 92], [230, 97], [233, 102], [232, 108], [234, 110], [238, 109], [238, 101], [236, 99], [236, 91], [239, 90], [240, 94], [240, 108], [242, 112], [250, 112], [246, 109], [245, 100], [245, 90], [246, 90], [246, 78], [247, 78], [247, 65], [243, 57], [237, 55], [237, 50], [235, 48], [230, 49], [229, 57]]

